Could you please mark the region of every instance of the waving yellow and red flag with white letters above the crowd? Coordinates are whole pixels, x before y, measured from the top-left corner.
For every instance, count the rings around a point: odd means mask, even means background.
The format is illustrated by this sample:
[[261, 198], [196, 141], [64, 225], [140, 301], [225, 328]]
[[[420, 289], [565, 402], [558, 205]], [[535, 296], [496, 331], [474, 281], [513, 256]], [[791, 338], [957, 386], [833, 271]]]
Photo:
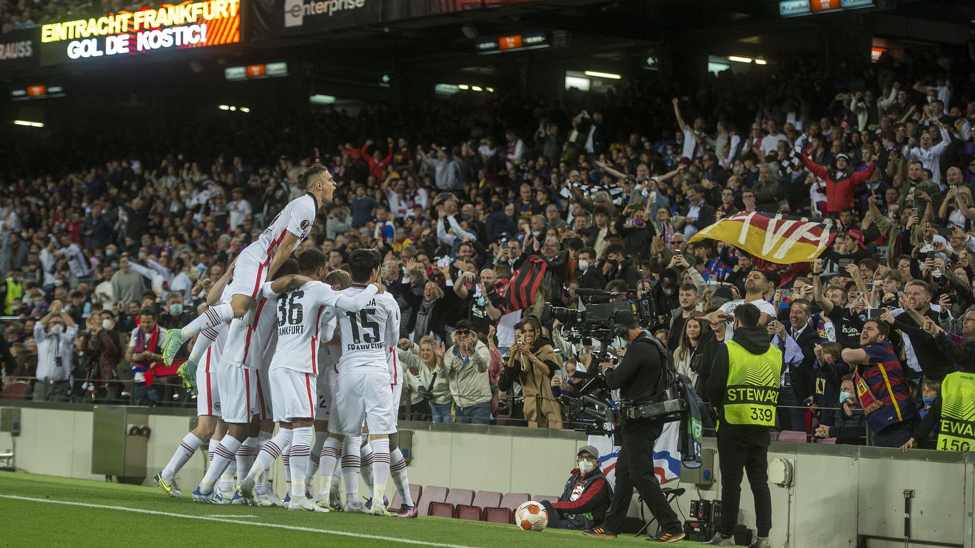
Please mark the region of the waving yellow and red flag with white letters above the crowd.
[[770, 262], [810, 262], [837, 237], [831, 218], [742, 212], [704, 227], [689, 241], [719, 240]]

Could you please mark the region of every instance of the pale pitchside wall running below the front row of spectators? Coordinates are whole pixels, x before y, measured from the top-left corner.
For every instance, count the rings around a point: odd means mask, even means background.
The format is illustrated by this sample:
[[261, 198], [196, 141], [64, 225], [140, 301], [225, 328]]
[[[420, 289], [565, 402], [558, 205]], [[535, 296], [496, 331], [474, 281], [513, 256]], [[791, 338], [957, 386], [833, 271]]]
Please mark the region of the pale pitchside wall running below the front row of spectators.
[[[10, 404], [10, 402], [7, 402]], [[189, 411], [185, 411], [189, 412]], [[190, 418], [183, 410], [154, 412], [148, 417], [148, 470], [161, 469], [186, 433]], [[91, 408], [23, 404], [20, 435], [0, 432], [0, 452], [13, 448], [17, 467], [25, 472], [103, 481], [92, 474]], [[559, 494], [576, 450], [585, 437], [571, 431], [459, 424], [403, 423], [412, 432], [412, 483], [500, 492]], [[406, 440], [404, 440], [406, 442]], [[713, 440], [706, 439], [706, 448]], [[203, 476], [205, 453], [195, 455], [180, 472], [181, 487], [192, 489]], [[773, 443], [769, 460], [782, 457], [794, 465], [791, 488], [770, 486], [772, 545], [795, 548], [904, 546], [904, 490], [914, 489], [912, 546], [975, 548], [975, 455], [940, 451], [900, 451]], [[715, 459], [715, 476], [721, 455]], [[151, 475], [144, 485], [151, 485]], [[283, 489], [280, 461], [272, 481]], [[676, 487], [674, 483], [667, 487]], [[691, 498], [720, 499], [720, 481], [710, 486], [681, 483]], [[0, 485], [0, 491], [3, 486]], [[699, 491], [699, 492], [698, 492]], [[361, 488], [360, 492], [366, 492]], [[755, 527], [747, 480], [739, 522]], [[681, 514], [679, 510], [679, 515]], [[639, 516], [636, 497], [631, 516]]]

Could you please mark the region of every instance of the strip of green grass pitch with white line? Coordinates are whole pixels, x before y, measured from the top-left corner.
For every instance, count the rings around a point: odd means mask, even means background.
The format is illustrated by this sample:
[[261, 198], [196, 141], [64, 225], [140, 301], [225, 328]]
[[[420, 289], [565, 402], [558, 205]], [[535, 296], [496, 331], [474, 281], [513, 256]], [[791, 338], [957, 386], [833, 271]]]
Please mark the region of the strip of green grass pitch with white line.
[[[192, 486], [182, 486], [188, 493]], [[189, 488], [189, 489], [187, 489]], [[645, 537], [584, 537], [446, 518], [395, 520], [365, 514], [215, 506], [160, 489], [0, 472], [0, 546], [651, 546]], [[671, 546], [699, 546], [676, 542]]]

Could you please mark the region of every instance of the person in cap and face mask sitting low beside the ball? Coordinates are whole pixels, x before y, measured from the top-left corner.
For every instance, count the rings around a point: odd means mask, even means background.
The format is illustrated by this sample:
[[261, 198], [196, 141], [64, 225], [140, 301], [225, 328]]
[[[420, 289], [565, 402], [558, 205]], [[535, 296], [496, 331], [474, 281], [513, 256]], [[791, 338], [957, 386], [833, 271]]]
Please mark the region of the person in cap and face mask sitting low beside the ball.
[[600, 470], [600, 453], [583, 446], [559, 501], [543, 500], [542, 506], [549, 515], [548, 527], [584, 530], [603, 523], [610, 502], [612, 488]]

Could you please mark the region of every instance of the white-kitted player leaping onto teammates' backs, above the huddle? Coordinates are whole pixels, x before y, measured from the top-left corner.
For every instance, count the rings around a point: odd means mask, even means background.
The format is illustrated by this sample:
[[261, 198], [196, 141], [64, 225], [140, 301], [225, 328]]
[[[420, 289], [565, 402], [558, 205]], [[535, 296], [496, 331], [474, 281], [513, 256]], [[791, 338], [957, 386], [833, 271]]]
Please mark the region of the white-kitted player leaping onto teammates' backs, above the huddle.
[[294, 248], [308, 237], [319, 208], [324, 204], [331, 204], [335, 181], [325, 166], [310, 166], [301, 174], [301, 184], [307, 191], [304, 196], [295, 198], [285, 206], [260, 236], [237, 257], [234, 278], [229, 287], [230, 294], [233, 295], [230, 302], [207, 309], [206, 313], [181, 330], [167, 332], [166, 345], [163, 347], [163, 361], [167, 366], [173, 363], [176, 351], [183, 342], [194, 334], [223, 322], [234, 320], [227, 335], [227, 347], [234, 348], [244, 344], [248, 326], [243, 318], [254, 308], [261, 284], [272, 280]]

